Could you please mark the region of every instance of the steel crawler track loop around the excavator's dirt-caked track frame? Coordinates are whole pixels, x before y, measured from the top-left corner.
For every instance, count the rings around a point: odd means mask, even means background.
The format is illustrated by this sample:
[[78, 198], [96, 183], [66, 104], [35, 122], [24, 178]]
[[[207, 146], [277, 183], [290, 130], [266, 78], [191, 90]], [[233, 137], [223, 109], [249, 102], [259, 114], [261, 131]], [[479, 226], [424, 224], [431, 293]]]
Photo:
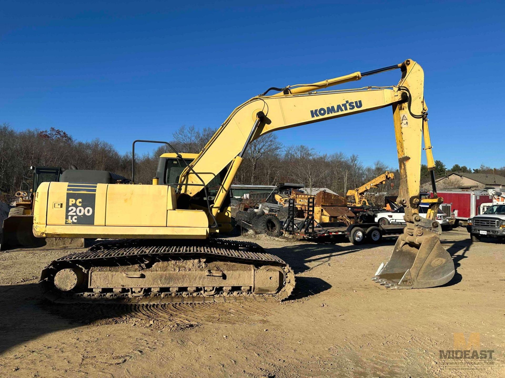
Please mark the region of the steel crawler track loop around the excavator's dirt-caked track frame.
[[[90, 289], [87, 274], [93, 267], [148, 267], [156, 262], [184, 262], [199, 259], [214, 263], [242, 263], [279, 267], [283, 271], [284, 282], [275, 294], [255, 294], [250, 290], [231, 287], [216, 287], [210, 294], [206, 288], [185, 287], [177, 292], [169, 288], [124, 288], [122, 292], [109, 289]], [[61, 291], [55, 286], [55, 275], [62, 269], [80, 269], [86, 279], [79, 288]], [[292, 269], [277, 256], [265, 253], [264, 249], [246, 241], [227, 239], [198, 240], [159, 240], [159, 239], [119, 239], [108, 240], [93, 245], [85, 251], [63, 256], [42, 270], [39, 285], [44, 298], [58, 303], [212, 303], [234, 301], [283, 300], [294, 288]]]

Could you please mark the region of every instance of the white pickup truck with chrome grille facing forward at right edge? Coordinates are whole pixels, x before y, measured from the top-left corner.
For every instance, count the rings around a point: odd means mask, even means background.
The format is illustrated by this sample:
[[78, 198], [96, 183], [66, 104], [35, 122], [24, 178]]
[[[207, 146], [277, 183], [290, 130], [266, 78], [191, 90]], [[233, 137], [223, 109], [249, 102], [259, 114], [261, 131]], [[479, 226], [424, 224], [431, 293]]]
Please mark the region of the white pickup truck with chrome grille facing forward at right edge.
[[505, 237], [505, 205], [491, 205], [484, 214], [469, 218], [467, 231], [472, 241], [480, 241], [482, 236]]

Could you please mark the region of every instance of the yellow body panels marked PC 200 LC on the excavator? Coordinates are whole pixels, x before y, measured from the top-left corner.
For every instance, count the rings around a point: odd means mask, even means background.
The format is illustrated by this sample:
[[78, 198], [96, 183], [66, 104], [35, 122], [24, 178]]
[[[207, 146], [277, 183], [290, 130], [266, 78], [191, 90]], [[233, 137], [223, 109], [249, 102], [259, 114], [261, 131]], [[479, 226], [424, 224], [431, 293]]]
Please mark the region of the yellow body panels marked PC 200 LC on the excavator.
[[166, 185], [42, 183], [35, 196], [37, 237], [196, 238], [209, 235], [207, 213], [176, 210]]

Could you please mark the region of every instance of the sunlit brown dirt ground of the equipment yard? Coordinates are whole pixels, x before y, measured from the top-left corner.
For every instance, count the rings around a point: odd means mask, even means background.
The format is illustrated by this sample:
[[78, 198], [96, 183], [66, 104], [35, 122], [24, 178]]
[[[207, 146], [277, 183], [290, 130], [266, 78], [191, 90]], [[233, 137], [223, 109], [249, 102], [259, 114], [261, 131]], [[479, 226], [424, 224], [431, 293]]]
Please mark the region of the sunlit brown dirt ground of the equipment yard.
[[[505, 375], [505, 243], [472, 244], [465, 229], [445, 232], [455, 278], [444, 287], [388, 290], [370, 277], [394, 238], [379, 246], [254, 241], [294, 269], [287, 301], [51, 305], [40, 300], [39, 272], [69, 250], [0, 254], [0, 376]], [[447, 365], [462, 363], [439, 358], [439, 350], [455, 349], [454, 333], [479, 333], [472, 349], [494, 350], [494, 364]]]

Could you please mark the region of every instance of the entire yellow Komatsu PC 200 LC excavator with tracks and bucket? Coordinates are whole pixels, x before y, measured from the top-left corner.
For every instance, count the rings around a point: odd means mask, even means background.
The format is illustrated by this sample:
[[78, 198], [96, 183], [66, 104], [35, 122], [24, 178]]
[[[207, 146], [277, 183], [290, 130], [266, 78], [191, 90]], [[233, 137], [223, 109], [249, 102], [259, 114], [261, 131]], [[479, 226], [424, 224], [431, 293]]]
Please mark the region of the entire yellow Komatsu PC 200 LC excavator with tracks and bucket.
[[[326, 90], [395, 69], [401, 71], [398, 85]], [[42, 183], [35, 198], [35, 236], [115, 239], [49, 264], [40, 279], [44, 296], [56, 302], [135, 303], [287, 298], [294, 274], [284, 261], [254, 243], [209, 238], [219, 231], [218, 218], [226, 212], [248, 144], [276, 130], [387, 106], [398, 152], [397, 202], [405, 207], [407, 226], [372, 279], [397, 289], [447, 283], [455, 270], [435, 220], [442, 199], [436, 196], [423, 85], [421, 66], [408, 59], [314, 84], [272, 87], [232, 111], [176, 185], [161, 177], [152, 185]], [[272, 90], [277, 93], [267, 95]], [[423, 135], [434, 192], [426, 218], [419, 216]], [[166, 168], [158, 169], [158, 176], [166, 174]], [[218, 177], [211, 196], [209, 185]]]

